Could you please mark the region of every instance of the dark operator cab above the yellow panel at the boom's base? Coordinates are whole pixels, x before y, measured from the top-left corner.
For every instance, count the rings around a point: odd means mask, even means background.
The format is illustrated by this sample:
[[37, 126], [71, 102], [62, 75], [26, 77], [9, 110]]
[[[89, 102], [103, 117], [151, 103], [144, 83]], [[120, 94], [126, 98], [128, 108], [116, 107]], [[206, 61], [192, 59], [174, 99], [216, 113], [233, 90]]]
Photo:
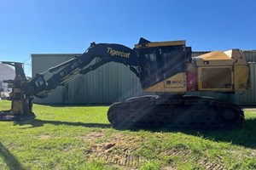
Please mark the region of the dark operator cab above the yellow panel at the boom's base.
[[141, 38], [135, 48], [143, 89], [185, 72], [186, 63], [191, 61], [191, 48], [185, 47], [185, 41], [149, 42]]

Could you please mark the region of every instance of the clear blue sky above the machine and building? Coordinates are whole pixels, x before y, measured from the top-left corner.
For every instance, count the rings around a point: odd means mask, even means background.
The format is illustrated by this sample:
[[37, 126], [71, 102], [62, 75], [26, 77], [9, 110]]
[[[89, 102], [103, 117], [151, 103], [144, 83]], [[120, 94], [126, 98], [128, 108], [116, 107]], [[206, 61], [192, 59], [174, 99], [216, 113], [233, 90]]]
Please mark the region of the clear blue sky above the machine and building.
[[194, 51], [256, 49], [256, 1], [1, 0], [0, 60], [83, 53], [90, 42], [130, 48], [139, 37], [186, 40]]

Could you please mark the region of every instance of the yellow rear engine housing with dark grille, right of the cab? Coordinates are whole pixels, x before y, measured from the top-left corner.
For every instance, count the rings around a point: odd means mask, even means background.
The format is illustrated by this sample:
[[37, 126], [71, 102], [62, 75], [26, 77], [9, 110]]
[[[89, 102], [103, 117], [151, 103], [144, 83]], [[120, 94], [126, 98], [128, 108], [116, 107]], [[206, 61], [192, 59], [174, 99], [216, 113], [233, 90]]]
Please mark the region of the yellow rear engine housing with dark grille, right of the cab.
[[247, 89], [249, 66], [241, 50], [215, 51], [194, 59], [199, 91], [241, 92]]

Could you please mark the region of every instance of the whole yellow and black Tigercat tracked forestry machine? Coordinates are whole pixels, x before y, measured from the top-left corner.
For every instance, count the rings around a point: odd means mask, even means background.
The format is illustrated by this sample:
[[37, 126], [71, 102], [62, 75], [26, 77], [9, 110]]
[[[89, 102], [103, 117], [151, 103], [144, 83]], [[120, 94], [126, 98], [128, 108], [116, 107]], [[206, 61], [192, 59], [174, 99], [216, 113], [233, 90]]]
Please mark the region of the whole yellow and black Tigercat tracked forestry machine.
[[[93, 62], [92, 62], [93, 61]], [[244, 120], [239, 105], [216, 99], [185, 95], [187, 92], [240, 93], [247, 90], [249, 67], [239, 49], [214, 51], [191, 57], [185, 41], [149, 42], [141, 38], [135, 48], [92, 42], [84, 54], [49, 68], [51, 77], [37, 74], [27, 81], [20, 63], [14, 65], [15, 80], [10, 111], [0, 119], [34, 118], [33, 96], [46, 98], [56, 87], [108, 62], [126, 65], [139, 78], [148, 95], [115, 103], [108, 110], [113, 127], [236, 127]]]

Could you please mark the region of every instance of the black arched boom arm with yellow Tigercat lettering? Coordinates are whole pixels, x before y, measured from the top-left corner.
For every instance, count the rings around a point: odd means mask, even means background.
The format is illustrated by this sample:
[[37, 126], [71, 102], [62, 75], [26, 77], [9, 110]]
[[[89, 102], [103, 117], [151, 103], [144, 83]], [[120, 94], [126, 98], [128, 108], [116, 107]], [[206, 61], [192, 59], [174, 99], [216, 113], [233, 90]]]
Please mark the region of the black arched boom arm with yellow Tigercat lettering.
[[[93, 59], [96, 59], [96, 63], [89, 65]], [[53, 75], [48, 80], [45, 80], [44, 74], [37, 74], [30, 82], [22, 84], [22, 88], [28, 96], [46, 98], [56, 87], [64, 85], [81, 74], [96, 70], [110, 61], [127, 65], [138, 77], [137, 54], [131, 48], [121, 44], [92, 42], [84, 54], [49, 68], [49, 72]]]

